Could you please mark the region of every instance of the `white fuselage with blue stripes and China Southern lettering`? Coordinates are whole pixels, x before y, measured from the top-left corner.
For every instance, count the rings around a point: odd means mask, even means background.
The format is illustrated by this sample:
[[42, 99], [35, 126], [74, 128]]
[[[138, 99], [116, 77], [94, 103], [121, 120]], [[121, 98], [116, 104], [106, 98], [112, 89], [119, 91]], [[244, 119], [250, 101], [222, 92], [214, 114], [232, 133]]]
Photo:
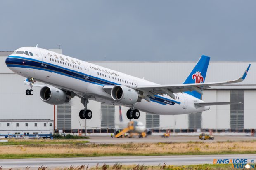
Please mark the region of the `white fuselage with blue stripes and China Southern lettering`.
[[[13, 72], [23, 77], [33, 77], [39, 82], [57, 88], [73, 91], [76, 95], [89, 100], [121, 105], [104, 91], [104, 86], [156, 85], [145, 79], [37, 47], [21, 47], [17, 51], [29, 51], [33, 53], [33, 56], [10, 55], [6, 59], [6, 64]], [[203, 102], [198, 98], [186, 93], [174, 93], [174, 95], [175, 100], [168, 95], [155, 95], [154, 99], [150, 98], [151, 102], [142, 99], [141, 102], [135, 103], [134, 108], [161, 115], [189, 114], [209, 110], [209, 106], [196, 107], [194, 105], [194, 102]]]

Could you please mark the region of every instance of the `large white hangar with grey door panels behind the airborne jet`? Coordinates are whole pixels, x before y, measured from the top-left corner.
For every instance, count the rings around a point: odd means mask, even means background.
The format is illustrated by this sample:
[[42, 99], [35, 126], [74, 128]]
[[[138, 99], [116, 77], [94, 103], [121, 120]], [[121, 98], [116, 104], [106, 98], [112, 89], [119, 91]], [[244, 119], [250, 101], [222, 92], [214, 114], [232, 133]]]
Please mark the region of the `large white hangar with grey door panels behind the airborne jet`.
[[[62, 53], [61, 49], [53, 50]], [[0, 133], [7, 132], [7, 121], [16, 122], [24, 120], [47, 120], [47, 126], [53, 121], [52, 130], [64, 130], [64, 132], [85, 132], [84, 126], [117, 127], [119, 123], [119, 106], [106, 105], [100, 102], [90, 101], [88, 108], [93, 116], [90, 120], [79, 119], [78, 112], [83, 109], [80, 99], [75, 97], [70, 103], [62, 105], [49, 105], [40, 100], [40, 88], [33, 87], [34, 95], [26, 96], [24, 78], [14, 74], [5, 65], [5, 58], [12, 52], [0, 52]], [[199, 57], [198, 57], [199, 58]], [[119, 72], [124, 72], [135, 77], [145, 78], [158, 84], [182, 84], [190, 74], [198, 58], [191, 58], [192, 62], [123, 62], [123, 61], [97, 61], [91, 62]], [[197, 114], [184, 114], [175, 116], [153, 115], [141, 112], [138, 121], [150, 127], [168, 127], [176, 132], [192, 132], [197, 129], [212, 129], [213, 131], [244, 132], [256, 129], [256, 108], [254, 97], [256, 96], [256, 62], [216, 62], [209, 63], [205, 82], [219, 82], [239, 78], [247, 66], [251, 64], [247, 78], [238, 84], [211, 86], [204, 90], [202, 99], [205, 102], [242, 102], [242, 105], [211, 106], [209, 111]], [[128, 122], [126, 111], [121, 107], [123, 121]], [[55, 119], [54, 119], [55, 115]], [[52, 131], [49, 128], [49, 132]], [[23, 133], [14, 127], [16, 133]], [[159, 129], [158, 129], [159, 130]], [[40, 130], [39, 130], [40, 131]], [[43, 132], [43, 128], [41, 130]], [[157, 129], [156, 129], [157, 131]], [[107, 132], [95, 128], [87, 128], [87, 133]], [[33, 133], [33, 132], [31, 132]], [[34, 132], [36, 133], [36, 131]]]

